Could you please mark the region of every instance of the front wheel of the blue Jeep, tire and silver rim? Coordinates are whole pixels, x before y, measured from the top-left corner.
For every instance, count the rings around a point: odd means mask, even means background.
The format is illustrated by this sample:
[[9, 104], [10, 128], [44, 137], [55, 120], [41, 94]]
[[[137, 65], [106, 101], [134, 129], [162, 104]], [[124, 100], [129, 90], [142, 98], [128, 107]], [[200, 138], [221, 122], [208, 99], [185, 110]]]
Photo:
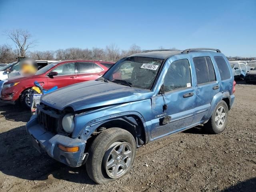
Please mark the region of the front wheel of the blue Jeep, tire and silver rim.
[[[119, 151], [122, 152], [118, 153]], [[130, 132], [121, 128], [109, 128], [94, 139], [88, 153], [88, 176], [97, 184], [104, 184], [130, 172], [136, 156], [136, 142]], [[107, 164], [110, 164], [110, 168], [107, 168]], [[119, 174], [114, 171], [119, 169]]]

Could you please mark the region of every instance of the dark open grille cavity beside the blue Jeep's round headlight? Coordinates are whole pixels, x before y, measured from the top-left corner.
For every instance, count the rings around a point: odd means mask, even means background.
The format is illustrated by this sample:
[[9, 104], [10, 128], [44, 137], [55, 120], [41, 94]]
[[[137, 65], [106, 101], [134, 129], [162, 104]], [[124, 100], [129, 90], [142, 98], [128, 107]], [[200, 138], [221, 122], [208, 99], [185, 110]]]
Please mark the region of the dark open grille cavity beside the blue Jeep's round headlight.
[[58, 130], [58, 118], [54, 118], [42, 111], [39, 111], [38, 122], [44, 126], [44, 130], [57, 134]]

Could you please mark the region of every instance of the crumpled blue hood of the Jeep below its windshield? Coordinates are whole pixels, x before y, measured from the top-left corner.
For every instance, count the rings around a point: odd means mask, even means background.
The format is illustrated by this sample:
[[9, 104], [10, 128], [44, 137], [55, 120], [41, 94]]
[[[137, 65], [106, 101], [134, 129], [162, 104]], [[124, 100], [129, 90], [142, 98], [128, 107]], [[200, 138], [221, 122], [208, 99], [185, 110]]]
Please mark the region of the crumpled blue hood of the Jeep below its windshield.
[[41, 102], [63, 110], [72, 107], [74, 111], [132, 102], [151, 98], [153, 92], [116, 83], [88, 81], [73, 84], [42, 96]]

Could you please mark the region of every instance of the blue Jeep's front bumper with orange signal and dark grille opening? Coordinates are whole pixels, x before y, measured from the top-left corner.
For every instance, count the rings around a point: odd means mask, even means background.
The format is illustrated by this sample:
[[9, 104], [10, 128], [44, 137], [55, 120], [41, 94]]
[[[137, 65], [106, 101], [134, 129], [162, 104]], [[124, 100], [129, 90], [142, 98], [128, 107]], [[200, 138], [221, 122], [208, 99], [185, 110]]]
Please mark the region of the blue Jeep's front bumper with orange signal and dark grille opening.
[[30, 118], [26, 130], [33, 146], [39, 152], [45, 151], [55, 160], [78, 167], [84, 164], [88, 157], [88, 154], [84, 153], [86, 142], [71, 138], [71, 134], [64, 131], [62, 119], [65, 114], [66, 111], [60, 112], [44, 104], [39, 105], [37, 115]]

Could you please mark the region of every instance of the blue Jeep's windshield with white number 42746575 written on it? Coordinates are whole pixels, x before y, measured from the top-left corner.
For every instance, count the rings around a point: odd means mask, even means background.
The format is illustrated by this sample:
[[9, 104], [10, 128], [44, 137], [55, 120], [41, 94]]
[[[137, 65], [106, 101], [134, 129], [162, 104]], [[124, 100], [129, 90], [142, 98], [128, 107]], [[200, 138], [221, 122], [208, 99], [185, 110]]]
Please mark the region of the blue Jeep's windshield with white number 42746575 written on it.
[[104, 74], [106, 80], [126, 86], [151, 89], [163, 59], [128, 57]]

